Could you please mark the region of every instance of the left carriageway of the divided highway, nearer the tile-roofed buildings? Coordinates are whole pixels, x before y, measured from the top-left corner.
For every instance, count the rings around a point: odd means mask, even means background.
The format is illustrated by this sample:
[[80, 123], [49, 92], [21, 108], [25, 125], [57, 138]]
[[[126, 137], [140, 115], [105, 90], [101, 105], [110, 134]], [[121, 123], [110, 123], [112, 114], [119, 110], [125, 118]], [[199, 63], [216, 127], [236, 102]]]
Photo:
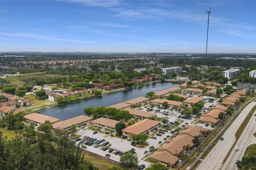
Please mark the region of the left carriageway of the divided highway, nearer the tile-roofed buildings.
[[251, 111], [256, 102], [252, 101], [238, 115], [236, 120], [230, 125], [228, 130], [223, 134], [223, 141], [219, 141], [210, 153], [205, 157], [203, 162], [198, 166], [197, 170], [220, 169], [223, 159], [228, 154], [229, 149], [235, 142], [235, 133], [243, 122], [246, 115]]

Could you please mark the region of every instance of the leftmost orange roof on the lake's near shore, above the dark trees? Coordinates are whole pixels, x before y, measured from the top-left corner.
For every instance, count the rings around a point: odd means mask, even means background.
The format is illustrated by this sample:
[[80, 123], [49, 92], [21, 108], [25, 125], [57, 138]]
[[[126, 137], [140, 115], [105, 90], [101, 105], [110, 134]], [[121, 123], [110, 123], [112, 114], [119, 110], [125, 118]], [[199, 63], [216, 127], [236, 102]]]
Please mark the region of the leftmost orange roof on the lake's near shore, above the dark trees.
[[55, 122], [60, 121], [58, 118], [45, 116], [45, 115], [38, 114], [38, 113], [31, 113], [31, 114], [25, 115], [24, 117], [27, 120], [34, 121], [34, 122], [41, 123], [41, 124], [43, 124], [46, 121], [49, 121], [51, 123], [55, 123]]

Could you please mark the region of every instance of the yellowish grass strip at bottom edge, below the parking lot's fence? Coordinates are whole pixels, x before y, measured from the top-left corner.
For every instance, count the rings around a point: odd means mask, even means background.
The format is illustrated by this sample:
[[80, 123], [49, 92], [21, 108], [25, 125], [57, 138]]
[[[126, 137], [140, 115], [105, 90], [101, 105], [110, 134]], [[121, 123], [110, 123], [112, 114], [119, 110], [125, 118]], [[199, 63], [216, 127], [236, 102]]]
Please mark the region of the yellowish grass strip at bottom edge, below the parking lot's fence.
[[92, 163], [93, 166], [98, 167], [100, 170], [107, 170], [111, 166], [117, 166], [88, 154], [84, 154], [84, 159]]

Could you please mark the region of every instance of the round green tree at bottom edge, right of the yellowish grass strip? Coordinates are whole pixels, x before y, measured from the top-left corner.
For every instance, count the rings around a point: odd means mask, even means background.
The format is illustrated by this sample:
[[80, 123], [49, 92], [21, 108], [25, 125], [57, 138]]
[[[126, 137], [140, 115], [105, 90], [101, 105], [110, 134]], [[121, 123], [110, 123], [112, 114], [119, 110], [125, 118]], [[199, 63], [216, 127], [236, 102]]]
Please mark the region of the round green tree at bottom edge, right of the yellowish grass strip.
[[136, 168], [139, 163], [138, 156], [126, 152], [120, 157], [120, 163], [126, 168]]

